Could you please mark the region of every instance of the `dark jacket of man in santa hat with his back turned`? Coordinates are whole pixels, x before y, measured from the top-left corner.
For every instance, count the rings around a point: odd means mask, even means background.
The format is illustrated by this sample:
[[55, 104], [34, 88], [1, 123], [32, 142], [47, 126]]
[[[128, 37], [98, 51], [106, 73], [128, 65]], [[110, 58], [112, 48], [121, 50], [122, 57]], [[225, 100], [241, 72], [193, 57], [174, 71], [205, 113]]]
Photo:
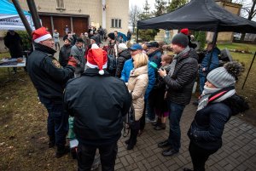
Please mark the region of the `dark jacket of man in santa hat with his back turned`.
[[64, 106], [74, 117], [74, 132], [79, 143], [102, 145], [119, 140], [122, 117], [131, 105], [125, 83], [107, 71], [88, 68], [81, 77], [67, 83]]

